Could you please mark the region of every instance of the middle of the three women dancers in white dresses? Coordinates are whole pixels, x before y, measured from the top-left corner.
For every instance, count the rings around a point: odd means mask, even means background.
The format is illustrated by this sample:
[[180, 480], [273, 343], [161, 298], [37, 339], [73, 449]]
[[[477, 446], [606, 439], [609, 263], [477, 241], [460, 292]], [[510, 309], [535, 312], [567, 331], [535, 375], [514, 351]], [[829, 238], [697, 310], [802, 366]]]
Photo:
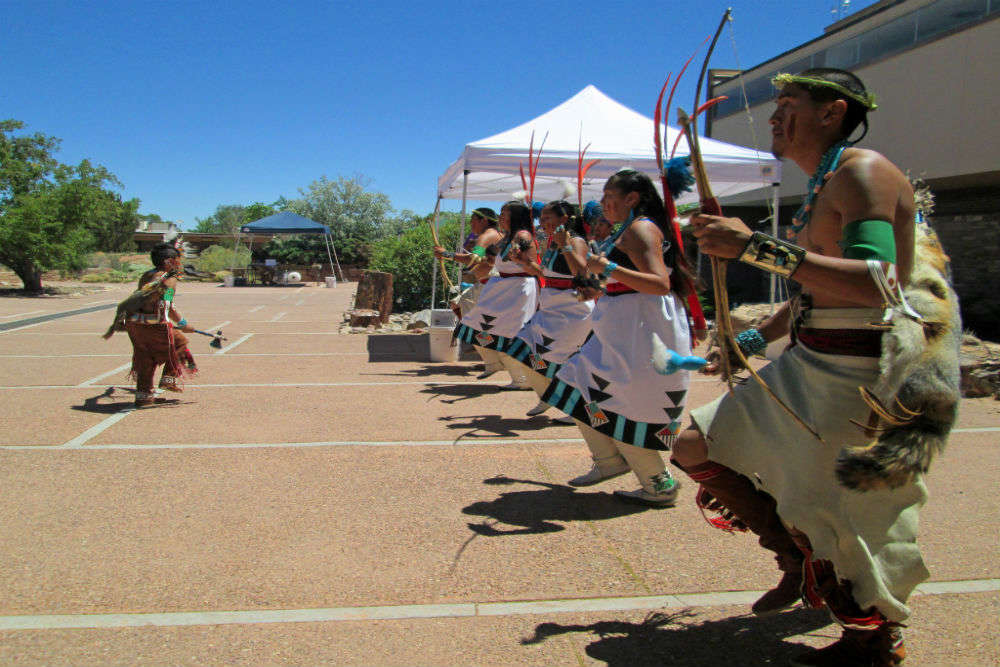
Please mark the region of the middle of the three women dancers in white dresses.
[[[559, 364], [580, 349], [590, 334], [590, 314], [594, 310], [593, 300], [578, 299], [573, 289], [573, 276], [587, 266], [587, 243], [580, 217], [571, 204], [553, 201], [542, 209], [541, 223], [549, 239], [541, 265], [524, 257], [515, 258], [525, 273], [544, 276], [538, 312], [500, 357], [511, 377], [525, 378], [539, 395], [548, 387]], [[528, 416], [540, 415], [549, 407], [539, 401], [528, 410]], [[568, 423], [573, 423], [572, 419]]]

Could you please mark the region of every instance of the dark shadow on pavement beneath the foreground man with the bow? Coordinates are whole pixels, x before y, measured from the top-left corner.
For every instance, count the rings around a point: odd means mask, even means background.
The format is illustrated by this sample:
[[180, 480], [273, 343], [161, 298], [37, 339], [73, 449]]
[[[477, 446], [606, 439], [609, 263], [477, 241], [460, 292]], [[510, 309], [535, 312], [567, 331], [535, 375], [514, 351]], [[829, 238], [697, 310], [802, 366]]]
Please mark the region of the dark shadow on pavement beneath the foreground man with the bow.
[[[830, 625], [815, 609], [795, 609], [767, 618], [733, 616], [699, 621], [698, 612], [653, 612], [640, 623], [598, 621], [589, 625], [540, 623], [521, 644], [539, 644], [571, 632], [598, 636], [586, 653], [615, 667], [704, 667], [705, 665], [787, 665], [809, 650], [785, 641]], [[836, 633], [834, 633], [836, 634]], [[831, 642], [832, 643], [832, 642]]]

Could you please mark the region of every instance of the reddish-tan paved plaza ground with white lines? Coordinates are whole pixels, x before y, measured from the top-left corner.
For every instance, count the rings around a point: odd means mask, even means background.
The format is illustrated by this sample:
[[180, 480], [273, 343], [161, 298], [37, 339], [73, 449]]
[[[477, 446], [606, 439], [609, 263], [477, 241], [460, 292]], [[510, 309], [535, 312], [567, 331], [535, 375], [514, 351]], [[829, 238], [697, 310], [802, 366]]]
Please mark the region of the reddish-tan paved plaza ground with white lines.
[[[0, 323], [131, 288], [0, 298]], [[227, 340], [192, 335], [198, 375], [138, 411], [113, 310], [0, 332], [0, 665], [780, 665], [837, 636], [748, 614], [773, 560], [693, 484], [659, 510], [612, 497], [629, 477], [574, 489], [579, 432], [509, 378], [338, 334], [352, 293], [183, 284]], [[906, 664], [1000, 664], [998, 445], [1000, 402], [963, 400]]]

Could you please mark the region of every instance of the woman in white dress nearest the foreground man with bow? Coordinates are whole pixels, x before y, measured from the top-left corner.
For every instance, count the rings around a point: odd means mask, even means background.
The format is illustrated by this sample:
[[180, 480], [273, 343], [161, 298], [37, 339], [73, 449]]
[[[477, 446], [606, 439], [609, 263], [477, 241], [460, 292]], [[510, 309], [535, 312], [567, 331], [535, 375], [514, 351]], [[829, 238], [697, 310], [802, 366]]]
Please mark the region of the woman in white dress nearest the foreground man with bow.
[[665, 507], [678, 483], [657, 450], [667, 450], [681, 431], [688, 371], [660, 375], [650, 364], [652, 335], [681, 355], [691, 349], [684, 297], [693, 287], [682, 252], [648, 176], [623, 169], [604, 186], [604, 215], [618, 230], [590, 255], [587, 269], [607, 280], [591, 316], [593, 335], [556, 373], [542, 400], [572, 415], [594, 459], [589, 486], [625, 474], [637, 491], [616, 491], [630, 502]]

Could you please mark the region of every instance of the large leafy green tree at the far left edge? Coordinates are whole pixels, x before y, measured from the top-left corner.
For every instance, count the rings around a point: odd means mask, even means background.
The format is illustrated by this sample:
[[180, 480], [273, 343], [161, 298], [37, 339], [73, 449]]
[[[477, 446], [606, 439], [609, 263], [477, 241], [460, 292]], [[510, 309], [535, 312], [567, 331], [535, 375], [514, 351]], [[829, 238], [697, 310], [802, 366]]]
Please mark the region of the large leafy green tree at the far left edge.
[[40, 291], [42, 272], [83, 268], [98, 242], [121, 246], [134, 229], [138, 200], [122, 202], [108, 187], [120, 183], [88, 160], [60, 164], [59, 139], [17, 135], [24, 123], [0, 121], [0, 262], [29, 291]]

